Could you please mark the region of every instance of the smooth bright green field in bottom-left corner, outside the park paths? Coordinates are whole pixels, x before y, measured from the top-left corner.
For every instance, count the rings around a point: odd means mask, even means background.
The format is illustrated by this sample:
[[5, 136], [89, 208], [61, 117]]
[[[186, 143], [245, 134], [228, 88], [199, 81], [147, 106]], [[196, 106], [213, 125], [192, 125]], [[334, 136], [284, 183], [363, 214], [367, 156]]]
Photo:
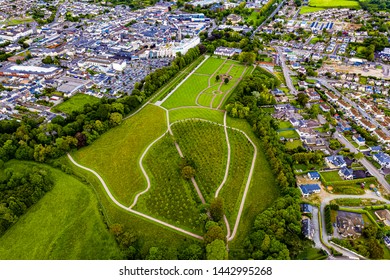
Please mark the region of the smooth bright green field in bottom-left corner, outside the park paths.
[[[12, 160], [16, 170], [32, 162]], [[45, 165], [54, 188], [0, 237], [0, 259], [119, 259], [114, 237], [99, 213], [93, 190], [73, 176]]]

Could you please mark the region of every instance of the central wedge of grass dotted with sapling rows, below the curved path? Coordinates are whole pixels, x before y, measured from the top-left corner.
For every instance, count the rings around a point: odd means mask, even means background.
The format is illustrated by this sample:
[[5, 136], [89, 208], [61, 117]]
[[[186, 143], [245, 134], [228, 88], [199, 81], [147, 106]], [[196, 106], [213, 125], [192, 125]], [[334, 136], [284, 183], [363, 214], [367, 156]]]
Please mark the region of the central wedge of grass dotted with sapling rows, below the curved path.
[[210, 202], [221, 184], [227, 157], [222, 126], [199, 120], [172, 125], [172, 131], [184, 157], [196, 170], [195, 179], [206, 201]]

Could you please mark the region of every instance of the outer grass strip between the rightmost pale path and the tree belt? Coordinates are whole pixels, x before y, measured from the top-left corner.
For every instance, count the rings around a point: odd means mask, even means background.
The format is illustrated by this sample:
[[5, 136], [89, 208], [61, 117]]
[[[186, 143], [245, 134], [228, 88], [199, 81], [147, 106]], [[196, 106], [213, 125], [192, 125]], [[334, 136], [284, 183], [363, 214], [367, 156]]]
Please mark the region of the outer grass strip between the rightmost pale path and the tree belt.
[[255, 217], [267, 209], [279, 196], [274, 175], [264, 154], [260, 139], [256, 137], [246, 120], [228, 117], [227, 125], [244, 131], [257, 147], [256, 165], [253, 171], [252, 183], [245, 201], [244, 210], [236, 238], [229, 244], [230, 254], [240, 259], [240, 251], [248, 236]]

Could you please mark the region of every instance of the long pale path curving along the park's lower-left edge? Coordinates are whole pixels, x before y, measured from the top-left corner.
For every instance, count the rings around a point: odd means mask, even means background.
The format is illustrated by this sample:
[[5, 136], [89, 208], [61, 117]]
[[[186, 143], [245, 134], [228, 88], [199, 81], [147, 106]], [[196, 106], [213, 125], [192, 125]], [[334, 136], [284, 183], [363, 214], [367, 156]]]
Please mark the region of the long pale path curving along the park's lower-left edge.
[[74, 165], [76, 165], [77, 167], [79, 167], [79, 168], [81, 168], [81, 169], [84, 169], [84, 170], [87, 170], [87, 171], [93, 173], [93, 174], [99, 179], [100, 183], [103, 185], [103, 187], [104, 187], [104, 189], [105, 189], [107, 195], [108, 195], [109, 198], [111, 199], [111, 201], [114, 202], [117, 206], [119, 206], [119, 207], [122, 208], [123, 210], [128, 211], [128, 212], [130, 212], [130, 213], [133, 213], [133, 214], [135, 214], [135, 215], [138, 215], [138, 216], [140, 216], [140, 217], [142, 217], [142, 218], [144, 218], [144, 219], [147, 219], [147, 220], [153, 221], [153, 222], [155, 222], [155, 223], [158, 223], [158, 224], [160, 224], [160, 225], [169, 227], [169, 228], [171, 228], [171, 229], [173, 229], [173, 230], [179, 231], [179, 232], [184, 233], [184, 234], [186, 234], [186, 235], [189, 235], [189, 236], [191, 236], [191, 237], [194, 237], [194, 238], [203, 240], [203, 237], [202, 237], [202, 236], [199, 236], [199, 235], [197, 235], [197, 234], [194, 234], [194, 233], [192, 233], [192, 232], [186, 231], [186, 230], [184, 230], [184, 229], [175, 227], [175, 226], [173, 226], [173, 225], [171, 225], [171, 224], [168, 224], [168, 223], [166, 223], [166, 222], [160, 221], [160, 220], [158, 220], [158, 219], [155, 219], [155, 218], [153, 218], [153, 217], [150, 217], [150, 216], [148, 216], [148, 215], [145, 215], [145, 214], [143, 214], [143, 213], [141, 213], [141, 212], [135, 211], [135, 210], [133, 210], [133, 209], [131, 209], [131, 208], [128, 208], [128, 207], [124, 206], [123, 204], [119, 203], [119, 202], [115, 199], [115, 197], [112, 195], [112, 193], [110, 192], [110, 190], [109, 190], [108, 186], [106, 185], [106, 183], [104, 182], [103, 178], [102, 178], [96, 171], [94, 171], [94, 170], [92, 170], [92, 169], [90, 169], [90, 168], [88, 168], [88, 167], [85, 167], [85, 166], [83, 166], [83, 165], [81, 165], [81, 164], [78, 164], [78, 163], [72, 158], [72, 156], [71, 156], [70, 154], [68, 154], [68, 158], [69, 158], [69, 160], [70, 160]]

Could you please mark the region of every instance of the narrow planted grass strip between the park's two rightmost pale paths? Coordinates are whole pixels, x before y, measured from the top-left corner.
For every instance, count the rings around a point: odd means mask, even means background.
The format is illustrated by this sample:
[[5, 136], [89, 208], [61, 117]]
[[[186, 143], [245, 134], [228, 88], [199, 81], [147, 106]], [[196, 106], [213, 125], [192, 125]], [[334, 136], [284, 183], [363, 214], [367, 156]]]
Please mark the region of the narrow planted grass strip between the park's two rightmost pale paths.
[[221, 190], [220, 197], [224, 200], [225, 214], [232, 227], [236, 222], [248, 180], [254, 148], [241, 132], [228, 129], [228, 134], [231, 148], [229, 177]]

